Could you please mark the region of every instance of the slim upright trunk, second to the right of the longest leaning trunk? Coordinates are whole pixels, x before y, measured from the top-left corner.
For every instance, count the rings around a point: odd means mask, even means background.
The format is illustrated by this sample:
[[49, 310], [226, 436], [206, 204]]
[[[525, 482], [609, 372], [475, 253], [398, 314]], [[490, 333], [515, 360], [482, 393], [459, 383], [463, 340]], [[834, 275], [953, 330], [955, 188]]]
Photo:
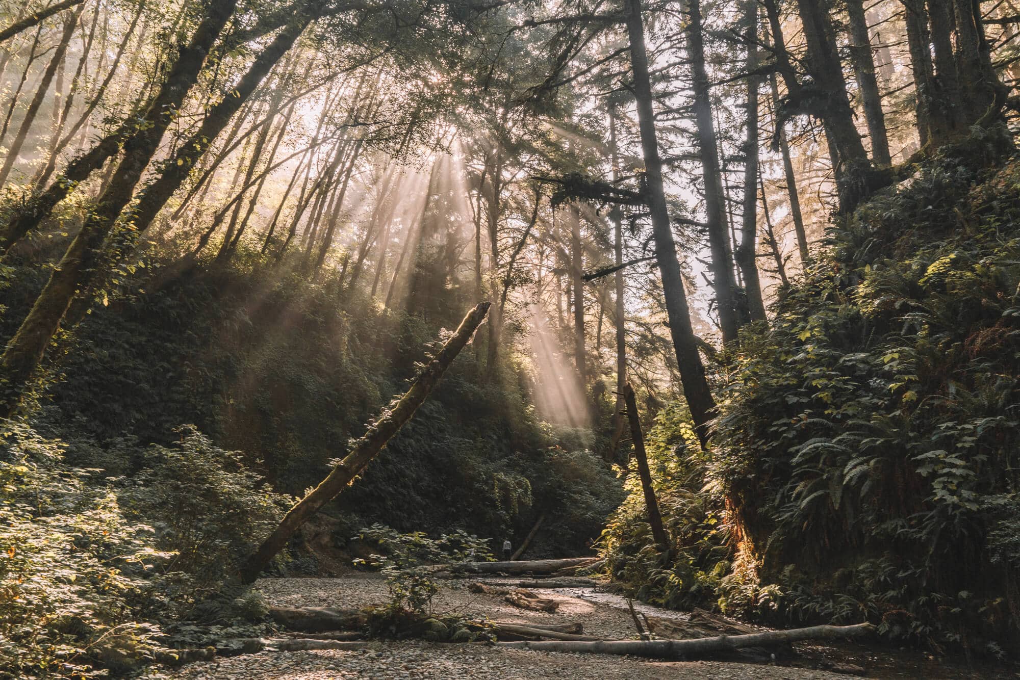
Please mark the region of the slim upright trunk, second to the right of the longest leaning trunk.
[[[758, 68], [758, 0], [745, 0], [747, 70]], [[744, 215], [736, 263], [744, 274], [744, 292], [752, 321], [765, 320], [765, 302], [758, 276], [758, 88], [761, 79], [748, 76], [747, 136], [744, 139]]]

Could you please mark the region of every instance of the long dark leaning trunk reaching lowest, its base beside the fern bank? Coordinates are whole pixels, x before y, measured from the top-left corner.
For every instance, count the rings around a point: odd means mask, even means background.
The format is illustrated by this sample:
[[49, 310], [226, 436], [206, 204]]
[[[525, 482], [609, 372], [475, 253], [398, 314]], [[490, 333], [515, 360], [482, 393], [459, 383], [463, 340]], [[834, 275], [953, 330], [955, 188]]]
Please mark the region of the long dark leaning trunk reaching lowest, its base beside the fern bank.
[[641, 0], [626, 0], [624, 14], [630, 40], [633, 93], [638, 102], [642, 152], [645, 157], [646, 191], [652, 217], [655, 254], [662, 276], [662, 294], [669, 318], [669, 333], [676, 352], [683, 395], [695, 421], [695, 431], [704, 446], [708, 442], [708, 423], [715, 409], [715, 400], [712, 399], [712, 391], [705, 377], [705, 366], [702, 364], [701, 355], [698, 354], [698, 341], [691, 324], [691, 310], [687, 307], [686, 293], [683, 291], [683, 276], [676, 257], [676, 244], [673, 241], [673, 230], [666, 205], [662, 160], [659, 157], [659, 142], [652, 108], [652, 84], [649, 77], [648, 53], [645, 50]]

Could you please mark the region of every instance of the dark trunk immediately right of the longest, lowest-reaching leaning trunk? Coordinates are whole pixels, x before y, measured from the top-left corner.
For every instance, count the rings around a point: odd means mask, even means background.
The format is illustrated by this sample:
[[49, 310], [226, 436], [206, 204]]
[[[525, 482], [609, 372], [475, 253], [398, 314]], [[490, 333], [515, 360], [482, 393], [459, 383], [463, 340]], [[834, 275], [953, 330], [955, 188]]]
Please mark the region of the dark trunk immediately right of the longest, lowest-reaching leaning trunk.
[[733, 280], [733, 253], [726, 220], [722, 169], [719, 165], [718, 141], [712, 116], [712, 100], [708, 73], [705, 70], [705, 44], [702, 33], [701, 0], [687, 2], [687, 58], [691, 61], [694, 112], [698, 126], [698, 148], [705, 180], [705, 217], [708, 224], [709, 250], [712, 254], [712, 286], [722, 342], [735, 343], [740, 328], [736, 305], [736, 282]]

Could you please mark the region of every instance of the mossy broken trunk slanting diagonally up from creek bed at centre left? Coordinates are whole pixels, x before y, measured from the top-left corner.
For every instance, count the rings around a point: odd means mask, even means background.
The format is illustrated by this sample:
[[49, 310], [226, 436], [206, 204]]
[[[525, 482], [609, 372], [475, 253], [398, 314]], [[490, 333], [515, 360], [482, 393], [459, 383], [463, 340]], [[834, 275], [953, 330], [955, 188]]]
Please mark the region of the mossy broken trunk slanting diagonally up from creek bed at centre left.
[[241, 568], [242, 582], [253, 583], [269, 564], [269, 561], [284, 550], [287, 541], [297, 532], [298, 528], [361, 474], [368, 463], [382, 451], [393, 435], [411, 419], [414, 412], [439, 383], [440, 378], [443, 377], [453, 360], [471, 339], [478, 324], [486, 318], [490, 304], [488, 302], [479, 303], [467, 313], [464, 320], [460, 322], [457, 331], [411, 383], [410, 389], [393, 405], [392, 409], [382, 412], [378, 420], [354, 444], [351, 453], [329, 472], [318, 486], [291, 508], [275, 531], [265, 539], [265, 542]]

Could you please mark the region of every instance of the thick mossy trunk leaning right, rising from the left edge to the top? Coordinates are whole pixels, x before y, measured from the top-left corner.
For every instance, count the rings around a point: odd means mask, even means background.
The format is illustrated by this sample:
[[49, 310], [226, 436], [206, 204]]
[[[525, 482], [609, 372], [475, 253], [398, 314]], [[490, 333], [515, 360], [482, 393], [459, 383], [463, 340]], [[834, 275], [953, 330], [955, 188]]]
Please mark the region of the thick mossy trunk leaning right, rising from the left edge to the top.
[[176, 62], [146, 111], [139, 130], [124, 143], [123, 160], [109, 189], [96, 201], [32, 311], [0, 357], [0, 372], [6, 377], [8, 390], [0, 407], [0, 417], [9, 417], [16, 408], [22, 389], [59, 328], [74, 295], [87, 289], [96, 274], [103, 242], [131, 202], [135, 187], [152, 160], [163, 133], [198, 80], [206, 56], [234, 14], [236, 4], [237, 0], [209, 3], [191, 42], [181, 46]]

